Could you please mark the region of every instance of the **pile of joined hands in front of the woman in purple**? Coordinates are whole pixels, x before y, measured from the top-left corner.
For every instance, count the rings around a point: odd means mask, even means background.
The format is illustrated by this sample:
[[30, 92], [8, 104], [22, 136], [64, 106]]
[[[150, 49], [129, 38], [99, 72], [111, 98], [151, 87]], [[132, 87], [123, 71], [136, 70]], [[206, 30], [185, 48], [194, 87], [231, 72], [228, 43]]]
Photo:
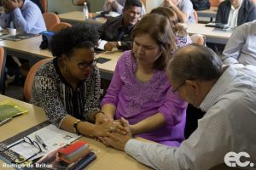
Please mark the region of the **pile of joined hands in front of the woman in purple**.
[[98, 131], [102, 131], [102, 135], [98, 135], [98, 139], [107, 146], [112, 146], [118, 150], [125, 150], [125, 144], [132, 138], [129, 122], [124, 118], [113, 120], [103, 114], [97, 114], [96, 126]]

